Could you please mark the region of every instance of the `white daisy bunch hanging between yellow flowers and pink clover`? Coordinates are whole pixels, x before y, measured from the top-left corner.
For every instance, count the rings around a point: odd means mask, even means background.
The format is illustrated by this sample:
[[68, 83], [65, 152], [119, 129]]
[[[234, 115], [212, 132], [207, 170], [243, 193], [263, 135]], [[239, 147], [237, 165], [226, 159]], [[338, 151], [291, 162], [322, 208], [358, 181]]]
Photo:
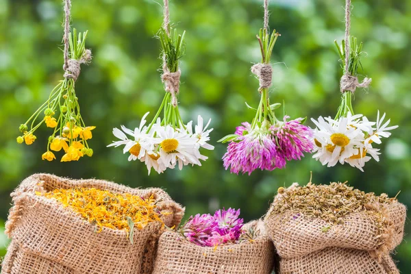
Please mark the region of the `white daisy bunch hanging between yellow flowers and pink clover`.
[[[177, 34], [176, 29], [162, 28], [159, 38], [162, 45], [163, 68], [162, 81], [166, 94], [155, 114], [153, 121], [147, 125], [147, 112], [142, 117], [140, 126], [134, 130], [121, 126], [114, 128], [113, 134], [119, 141], [114, 141], [108, 147], [119, 147], [124, 145], [123, 152], [129, 153], [129, 161], [140, 160], [144, 162], [147, 169], [153, 168], [158, 173], [166, 169], [174, 169], [178, 165], [181, 170], [188, 164], [201, 166], [200, 160], [207, 160], [201, 155], [200, 148], [212, 150], [214, 147], [208, 144], [208, 129], [211, 119], [203, 126], [203, 118], [198, 116], [194, 131], [192, 121], [184, 124], [179, 114], [177, 105], [177, 94], [179, 92], [179, 59], [184, 55], [184, 34]], [[160, 114], [162, 119], [160, 119]]]

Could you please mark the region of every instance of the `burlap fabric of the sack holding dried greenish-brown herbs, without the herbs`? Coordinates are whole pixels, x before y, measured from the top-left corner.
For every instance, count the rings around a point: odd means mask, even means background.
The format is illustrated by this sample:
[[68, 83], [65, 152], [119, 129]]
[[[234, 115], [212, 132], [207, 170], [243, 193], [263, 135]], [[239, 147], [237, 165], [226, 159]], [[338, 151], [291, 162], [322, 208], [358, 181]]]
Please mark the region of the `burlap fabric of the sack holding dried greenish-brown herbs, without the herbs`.
[[[264, 219], [281, 258], [280, 273], [399, 273], [390, 252], [403, 239], [406, 206], [398, 201], [373, 203], [367, 205], [369, 210], [347, 214], [330, 225], [296, 210], [277, 212], [279, 203], [293, 206], [295, 198], [290, 197], [296, 187], [278, 194]], [[307, 197], [303, 200], [308, 203]]]

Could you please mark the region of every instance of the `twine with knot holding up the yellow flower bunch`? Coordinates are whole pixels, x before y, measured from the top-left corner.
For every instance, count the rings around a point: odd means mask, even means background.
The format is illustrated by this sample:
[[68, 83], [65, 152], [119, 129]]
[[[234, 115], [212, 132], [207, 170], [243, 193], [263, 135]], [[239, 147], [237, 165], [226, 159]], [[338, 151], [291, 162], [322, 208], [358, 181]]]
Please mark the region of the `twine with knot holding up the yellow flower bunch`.
[[84, 55], [79, 60], [69, 58], [70, 20], [71, 0], [64, 0], [64, 77], [67, 79], [74, 79], [74, 81], [77, 81], [77, 78], [79, 77], [81, 71], [80, 64], [89, 63], [92, 58], [92, 55], [90, 49], [86, 49]]

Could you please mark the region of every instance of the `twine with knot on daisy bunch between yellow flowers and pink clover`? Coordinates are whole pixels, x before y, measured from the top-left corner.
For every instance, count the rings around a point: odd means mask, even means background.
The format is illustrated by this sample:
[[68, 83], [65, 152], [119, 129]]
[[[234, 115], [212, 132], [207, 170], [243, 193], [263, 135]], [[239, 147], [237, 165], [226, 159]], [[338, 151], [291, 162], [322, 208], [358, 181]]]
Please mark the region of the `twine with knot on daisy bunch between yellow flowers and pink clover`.
[[[162, 27], [165, 29], [166, 34], [170, 37], [170, 10], [169, 10], [169, 0], [164, 0], [163, 5], [163, 25]], [[164, 90], [166, 92], [171, 93], [171, 104], [173, 107], [177, 107], [177, 95], [179, 93], [179, 79], [182, 75], [182, 72], [178, 69], [178, 71], [171, 72], [169, 67], [167, 66], [167, 56], [164, 53], [162, 56], [163, 58], [163, 66], [162, 66], [162, 75], [161, 79], [164, 83]]]

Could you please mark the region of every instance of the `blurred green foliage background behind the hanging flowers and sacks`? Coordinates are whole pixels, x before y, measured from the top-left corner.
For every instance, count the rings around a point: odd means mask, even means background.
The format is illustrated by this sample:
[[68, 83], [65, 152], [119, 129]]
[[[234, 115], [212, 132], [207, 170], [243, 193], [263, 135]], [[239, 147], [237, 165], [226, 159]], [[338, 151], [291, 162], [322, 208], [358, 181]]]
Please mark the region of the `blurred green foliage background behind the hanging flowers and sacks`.
[[[203, 166], [151, 173], [140, 162], [127, 162], [121, 149], [107, 148], [112, 128], [138, 125], [145, 112], [157, 110], [164, 95], [158, 69], [160, 45], [153, 38], [162, 8], [151, 0], [73, 0], [73, 26], [89, 30], [86, 45], [94, 59], [83, 66], [77, 96], [88, 125], [92, 158], [79, 162], [45, 162], [50, 130], [41, 127], [34, 145], [18, 145], [18, 125], [47, 99], [62, 79], [62, 1], [0, 0], [0, 218], [7, 218], [10, 192], [33, 173], [73, 178], [97, 177], [133, 187], [159, 186], [186, 206], [186, 216], [223, 206], [241, 208], [246, 221], [269, 208], [279, 186], [292, 182], [349, 181], [366, 192], [386, 192], [411, 205], [411, 1], [354, 0], [351, 34], [364, 41], [368, 58], [364, 75], [373, 78], [368, 92], [356, 93], [354, 108], [375, 120], [387, 112], [400, 125], [380, 147], [380, 162], [362, 173], [348, 165], [325, 168], [310, 155], [284, 170], [251, 176], [225, 171], [226, 146], [216, 140], [251, 121], [244, 102], [258, 103], [258, 81], [251, 62], [260, 60], [256, 34], [262, 27], [262, 0], [171, 0], [171, 18], [186, 30], [180, 105], [185, 121], [201, 114], [212, 118], [214, 151], [204, 152]], [[341, 75], [334, 39], [344, 33], [343, 0], [272, 0], [271, 29], [282, 36], [275, 45], [273, 101], [286, 101], [292, 117], [333, 116], [340, 100]], [[152, 116], [151, 116], [152, 117]], [[309, 121], [308, 125], [312, 125]], [[61, 155], [58, 154], [58, 158]], [[406, 232], [411, 228], [407, 222]], [[0, 233], [1, 254], [8, 240]], [[411, 236], [406, 235], [395, 260], [403, 273], [411, 269]]]

